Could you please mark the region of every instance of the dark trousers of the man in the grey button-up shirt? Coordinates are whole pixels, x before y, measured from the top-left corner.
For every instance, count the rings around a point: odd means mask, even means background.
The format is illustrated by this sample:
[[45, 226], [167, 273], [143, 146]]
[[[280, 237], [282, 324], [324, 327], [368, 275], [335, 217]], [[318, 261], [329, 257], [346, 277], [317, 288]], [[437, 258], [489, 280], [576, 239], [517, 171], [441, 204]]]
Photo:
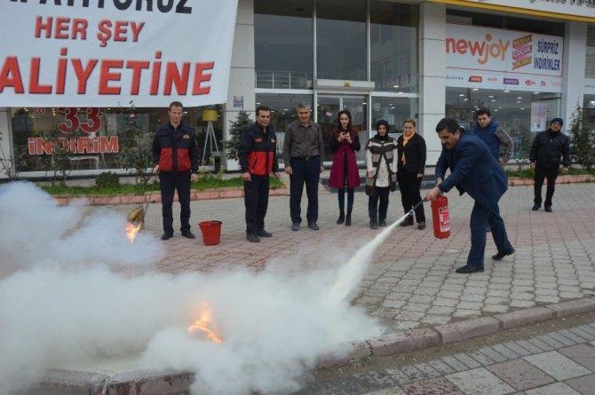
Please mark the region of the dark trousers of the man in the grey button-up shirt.
[[291, 222], [301, 224], [302, 222], [302, 193], [308, 196], [308, 209], [306, 219], [308, 224], [318, 221], [318, 181], [321, 177], [321, 158], [311, 157], [291, 158], [291, 169], [293, 174], [290, 176], [290, 213]]

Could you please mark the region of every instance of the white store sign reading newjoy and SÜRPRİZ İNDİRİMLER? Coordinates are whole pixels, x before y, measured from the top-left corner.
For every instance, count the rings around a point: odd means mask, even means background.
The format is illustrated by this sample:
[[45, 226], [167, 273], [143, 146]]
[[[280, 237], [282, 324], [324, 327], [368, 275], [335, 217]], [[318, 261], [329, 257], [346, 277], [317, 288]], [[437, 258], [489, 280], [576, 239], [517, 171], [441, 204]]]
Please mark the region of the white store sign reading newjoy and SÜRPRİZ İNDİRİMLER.
[[445, 51], [447, 86], [562, 89], [562, 37], [447, 24]]

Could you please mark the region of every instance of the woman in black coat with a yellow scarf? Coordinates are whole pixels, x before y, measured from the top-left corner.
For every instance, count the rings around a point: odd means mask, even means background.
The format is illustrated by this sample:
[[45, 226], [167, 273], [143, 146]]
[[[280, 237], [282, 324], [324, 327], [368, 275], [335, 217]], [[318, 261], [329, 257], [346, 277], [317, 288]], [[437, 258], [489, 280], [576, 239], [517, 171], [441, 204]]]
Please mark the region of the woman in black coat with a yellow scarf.
[[[403, 122], [403, 134], [397, 140], [399, 162], [397, 163], [397, 181], [401, 189], [403, 210], [409, 210], [422, 200], [419, 188], [422, 185], [425, 170], [425, 140], [416, 130], [416, 122], [407, 118]], [[417, 229], [425, 229], [424, 204], [416, 209]], [[413, 225], [413, 217], [408, 217], [401, 226]]]

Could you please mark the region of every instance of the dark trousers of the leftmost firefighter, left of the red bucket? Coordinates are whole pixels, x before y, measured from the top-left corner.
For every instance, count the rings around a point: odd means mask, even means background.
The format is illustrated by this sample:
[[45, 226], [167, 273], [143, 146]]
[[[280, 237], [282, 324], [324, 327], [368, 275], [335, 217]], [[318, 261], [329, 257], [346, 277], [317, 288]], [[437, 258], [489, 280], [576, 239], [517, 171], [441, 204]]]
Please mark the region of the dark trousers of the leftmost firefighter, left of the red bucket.
[[190, 231], [190, 173], [159, 173], [161, 188], [161, 209], [163, 215], [163, 232], [173, 234], [173, 217], [171, 206], [173, 194], [178, 191], [178, 201], [181, 207], [179, 214], [180, 231]]

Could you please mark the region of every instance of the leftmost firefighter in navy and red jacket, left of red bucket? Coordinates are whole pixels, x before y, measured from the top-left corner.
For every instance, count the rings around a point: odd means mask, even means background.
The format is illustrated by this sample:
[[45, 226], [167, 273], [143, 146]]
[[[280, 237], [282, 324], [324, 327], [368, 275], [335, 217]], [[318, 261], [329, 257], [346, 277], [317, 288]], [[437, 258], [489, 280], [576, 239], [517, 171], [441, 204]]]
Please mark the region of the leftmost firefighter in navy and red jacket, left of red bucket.
[[182, 123], [184, 107], [179, 101], [170, 104], [170, 122], [157, 126], [153, 138], [154, 172], [159, 174], [163, 213], [163, 236], [165, 241], [173, 237], [171, 206], [173, 194], [178, 191], [181, 207], [179, 215], [182, 236], [194, 239], [190, 232], [190, 182], [198, 176], [198, 152], [194, 129]]

